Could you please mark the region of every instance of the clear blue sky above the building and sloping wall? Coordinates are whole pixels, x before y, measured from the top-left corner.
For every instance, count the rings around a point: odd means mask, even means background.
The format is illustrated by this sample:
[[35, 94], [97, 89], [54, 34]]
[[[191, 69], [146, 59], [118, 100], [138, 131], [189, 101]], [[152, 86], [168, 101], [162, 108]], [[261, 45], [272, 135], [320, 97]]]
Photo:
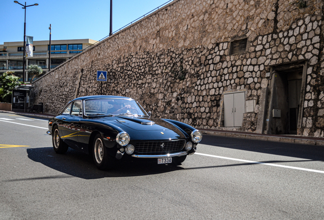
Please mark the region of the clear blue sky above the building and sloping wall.
[[[169, 0], [113, 0], [113, 32]], [[34, 41], [92, 39], [109, 35], [110, 0], [20, 0], [26, 8], [26, 35]], [[0, 0], [0, 44], [23, 41], [24, 9]]]

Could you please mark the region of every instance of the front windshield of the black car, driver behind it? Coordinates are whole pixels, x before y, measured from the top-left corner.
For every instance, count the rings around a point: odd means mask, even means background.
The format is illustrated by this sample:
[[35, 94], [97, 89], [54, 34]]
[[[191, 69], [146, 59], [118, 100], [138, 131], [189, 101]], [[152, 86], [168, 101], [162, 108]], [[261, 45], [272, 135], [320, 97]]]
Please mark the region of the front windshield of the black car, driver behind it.
[[148, 116], [142, 106], [137, 101], [131, 99], [87, 99], [84, 105], [86, 116]]

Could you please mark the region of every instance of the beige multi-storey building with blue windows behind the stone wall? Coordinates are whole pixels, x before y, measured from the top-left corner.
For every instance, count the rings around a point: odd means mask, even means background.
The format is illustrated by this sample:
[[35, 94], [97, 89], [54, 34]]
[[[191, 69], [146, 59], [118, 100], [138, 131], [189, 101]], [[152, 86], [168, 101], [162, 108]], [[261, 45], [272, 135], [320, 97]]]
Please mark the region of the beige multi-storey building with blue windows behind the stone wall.
[[[97, 41], [91, 39], [79, 40], [52, 40], [49, 64], [49, 40], [34, 41], [33, 57], [26, 57], [25, 81], [30, 81], [33, 76], [28, 74], [28, 65], [37, 64], [47, 72], [49, 67], [53, 69], [76, 53], [95, 44]], [[7, 71], [14, 71], [16, 76], [22, 80], [23, 74], [23, 42], [4, 42], [0, 44], [0, 74]], [[35, 77], [36, 79], [37, 77]]]

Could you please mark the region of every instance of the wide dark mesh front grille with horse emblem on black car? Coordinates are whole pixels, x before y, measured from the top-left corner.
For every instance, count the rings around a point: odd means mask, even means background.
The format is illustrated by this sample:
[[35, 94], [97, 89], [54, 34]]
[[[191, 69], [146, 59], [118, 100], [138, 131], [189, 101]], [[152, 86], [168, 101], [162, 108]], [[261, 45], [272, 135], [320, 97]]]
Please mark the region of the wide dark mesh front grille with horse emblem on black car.
[[171, 153], [182, 150], [185, 140], [176, 141], [143, 141], [136, 145], [138, 153]]

